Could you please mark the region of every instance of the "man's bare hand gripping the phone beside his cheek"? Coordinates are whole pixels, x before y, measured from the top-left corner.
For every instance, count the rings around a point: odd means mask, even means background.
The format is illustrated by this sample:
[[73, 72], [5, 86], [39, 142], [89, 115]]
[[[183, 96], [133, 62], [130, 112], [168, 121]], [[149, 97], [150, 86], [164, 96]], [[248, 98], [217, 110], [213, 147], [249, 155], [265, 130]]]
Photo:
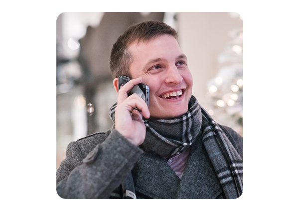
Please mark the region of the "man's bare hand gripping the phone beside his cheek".
[[115, 129], [136, 146], [141, 145], [146, 138], [146, 126], [142, 118], [149, 118], [149, 108], [137, 94], [128, 97], [128, 93], [142, 81], [142, 78], [136, 78], [122, 86], [115, 108]]

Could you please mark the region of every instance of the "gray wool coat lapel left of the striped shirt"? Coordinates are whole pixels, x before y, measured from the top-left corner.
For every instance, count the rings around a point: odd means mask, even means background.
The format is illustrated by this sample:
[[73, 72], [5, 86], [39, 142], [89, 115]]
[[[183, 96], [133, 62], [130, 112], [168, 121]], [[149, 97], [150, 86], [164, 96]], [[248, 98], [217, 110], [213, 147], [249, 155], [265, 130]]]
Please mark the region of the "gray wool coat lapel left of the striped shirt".
[[180, 179], [158, 155], [145, 152], [132, 175], [136, 191], [153, 199], [175, 199]]

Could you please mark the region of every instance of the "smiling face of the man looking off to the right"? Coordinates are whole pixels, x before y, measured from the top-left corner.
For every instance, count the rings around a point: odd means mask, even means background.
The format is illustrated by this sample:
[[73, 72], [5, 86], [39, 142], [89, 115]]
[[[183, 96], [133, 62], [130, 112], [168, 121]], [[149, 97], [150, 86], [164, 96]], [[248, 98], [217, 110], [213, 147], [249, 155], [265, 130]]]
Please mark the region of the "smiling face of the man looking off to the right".
[[131, 44], [129, 51], [134, 57], [132, 78], [143, 77], [143, 83], [149, 86], [150, 117], [169, 119], [186, 113], [193, 78], [175, 38], [160, 35], [147, 43]]

